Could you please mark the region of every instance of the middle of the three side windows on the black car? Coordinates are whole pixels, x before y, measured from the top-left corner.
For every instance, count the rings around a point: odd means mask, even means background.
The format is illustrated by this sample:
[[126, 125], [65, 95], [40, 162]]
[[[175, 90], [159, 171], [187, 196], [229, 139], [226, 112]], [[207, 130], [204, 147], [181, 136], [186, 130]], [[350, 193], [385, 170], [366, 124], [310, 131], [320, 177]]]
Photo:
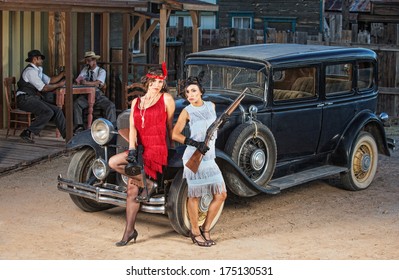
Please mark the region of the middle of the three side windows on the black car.
[[325, 85], [326, 96], [351, 92], [353, 87], [353, 64], [327, 65]]

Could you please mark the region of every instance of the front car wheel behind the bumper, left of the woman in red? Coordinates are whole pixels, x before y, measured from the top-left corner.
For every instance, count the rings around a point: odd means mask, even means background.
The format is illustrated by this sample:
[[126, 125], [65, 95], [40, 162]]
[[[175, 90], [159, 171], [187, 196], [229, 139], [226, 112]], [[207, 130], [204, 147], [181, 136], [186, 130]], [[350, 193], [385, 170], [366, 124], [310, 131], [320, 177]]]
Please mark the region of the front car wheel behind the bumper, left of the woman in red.
[[[97, 178], [92, 172], [92, 163], [95, 159], [96, 154], [91, 148], [84, 148], [76, 152], [69, 163], [67, 178], [81, 183], [95, 183]], [[92, 199], [74, 194], [70, 194], [70, 197], [76, 206], [86, 212], [101, 211], [114, 207], [111, 204], [98, 203]]]

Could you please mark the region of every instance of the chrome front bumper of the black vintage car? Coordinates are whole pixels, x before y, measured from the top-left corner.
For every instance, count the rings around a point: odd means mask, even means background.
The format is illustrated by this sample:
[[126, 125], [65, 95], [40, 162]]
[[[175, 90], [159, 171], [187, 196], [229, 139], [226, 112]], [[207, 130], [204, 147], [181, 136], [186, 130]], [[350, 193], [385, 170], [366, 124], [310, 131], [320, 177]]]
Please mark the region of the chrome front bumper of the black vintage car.
[[[88, 198], [99, 203], [126, 207], [127, 194], [123, 190], [118, 190], [121, 187], [117, 185], [103, 183], [101, 186], [93, 186], [62, 178], [61, 175], [58, 175], [57, 181], [57, 188], [60, 191]], [[141, 203], [140, 210], [147, 213], [165, 214], [165, 196], [151, 197], [149, 202]]]

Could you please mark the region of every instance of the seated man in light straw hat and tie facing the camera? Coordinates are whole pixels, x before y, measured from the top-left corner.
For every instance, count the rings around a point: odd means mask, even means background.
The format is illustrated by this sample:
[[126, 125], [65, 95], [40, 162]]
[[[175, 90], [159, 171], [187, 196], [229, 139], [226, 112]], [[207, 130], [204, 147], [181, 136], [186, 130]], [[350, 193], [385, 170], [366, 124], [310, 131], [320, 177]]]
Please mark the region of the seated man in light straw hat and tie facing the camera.
[[[97, 59], [100, 56], [96, 55], [93, 51], [85, 53], [82, 62], [86, 66], [82, 69], [79, 76], [76, 78], [78, 85], [88, 85], [96, 87], [96, 100], [94, 106], [101, 108], [105, 112], [105, 118], [112, 123], [116, 122], [116, 109], [115, 104], [112, 103], [102, 91], [105, 89], [105, 79], [107, 77], [106, 71], [97, 65]], [[83, 109], [89, 107], [87, 95], [79, 96], [73, 103], [73, 123], [74, 132], [79, 133], [84, 130], [83, 126]]]

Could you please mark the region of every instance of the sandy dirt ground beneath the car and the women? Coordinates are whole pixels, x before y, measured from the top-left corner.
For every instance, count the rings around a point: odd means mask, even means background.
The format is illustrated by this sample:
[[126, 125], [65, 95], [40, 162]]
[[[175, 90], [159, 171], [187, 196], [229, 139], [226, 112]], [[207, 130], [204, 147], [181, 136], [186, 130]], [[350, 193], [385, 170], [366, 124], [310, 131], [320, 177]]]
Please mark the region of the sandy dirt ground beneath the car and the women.
[[0, 178], [0, 259], [399, 259], [398, 151], [380, 157], [377, 176], [364, 191], [320, 180], [276, 196], [230, 197], [211, 248], [193, 245], [166, 216], [148, 213], [139, 214], [137, 243], [115, 247], [124, 209], [78, 209], [56, 186], [69, 160], [63, 156]]

